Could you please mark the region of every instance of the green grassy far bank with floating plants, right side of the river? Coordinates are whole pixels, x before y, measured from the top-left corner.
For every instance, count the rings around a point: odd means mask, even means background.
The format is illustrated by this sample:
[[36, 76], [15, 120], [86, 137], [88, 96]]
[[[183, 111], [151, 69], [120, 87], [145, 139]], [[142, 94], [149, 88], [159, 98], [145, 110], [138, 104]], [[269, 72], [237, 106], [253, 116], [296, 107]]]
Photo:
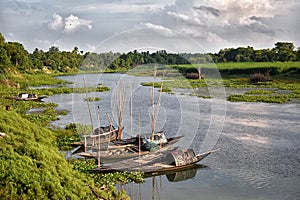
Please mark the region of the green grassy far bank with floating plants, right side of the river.
[[[201, 67], [203, 79], [185, 78], [197, 75], [198, 67]], [[151, 70], [148, 69], [148, 73], [153, 75], [153, 70], [151, 74]], [[229, 101], [287, 103], [300, 100], [300, 62], [172, 65], [158, 68], [156, 74], [164, 79], [163, 91], [168, 93], [172, 93], [174, 88], [201, 88], [198, 91], [202, 92], [197, 93], [193, 90], [190, 95], [208, 98], [209, 87], [224, 86], [245, 91], [252, 89], [252, 92], [244, 94], [227, 95]], [[145, 82], [142, 85], [160, 88], [161, 84]]]

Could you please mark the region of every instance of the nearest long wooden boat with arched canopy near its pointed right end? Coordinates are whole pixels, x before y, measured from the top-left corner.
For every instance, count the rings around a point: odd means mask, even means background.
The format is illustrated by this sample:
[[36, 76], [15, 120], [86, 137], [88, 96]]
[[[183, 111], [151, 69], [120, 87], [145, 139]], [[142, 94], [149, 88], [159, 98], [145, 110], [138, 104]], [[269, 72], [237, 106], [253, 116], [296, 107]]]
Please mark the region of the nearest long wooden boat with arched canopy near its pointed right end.
[[103, 173], [129, 171], [155, 175], [157, 173], [194, 167], [199, 161], [215, 151], [212, 150], [198, 155], [192, 149], [160, 151], [104, 165], [95, 169], [95, 171]]

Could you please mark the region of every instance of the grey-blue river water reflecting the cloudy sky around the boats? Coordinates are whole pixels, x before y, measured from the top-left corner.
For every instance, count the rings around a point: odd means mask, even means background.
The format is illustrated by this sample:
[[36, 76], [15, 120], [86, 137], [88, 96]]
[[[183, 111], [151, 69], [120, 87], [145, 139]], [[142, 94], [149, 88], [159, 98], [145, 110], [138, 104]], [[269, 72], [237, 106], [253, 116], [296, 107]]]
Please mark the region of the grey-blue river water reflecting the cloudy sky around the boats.
[[[84, 101], [86, 94], [47, 98], [45, 101], [59, 104], [57, 109], [69, 111], [53, 125], [63, 127], [74, 122], [97, 126], [99, 114], [101, 125], [108, 125], [108, 114], [117, 126], [119, 81], [125, 88], [125, 134], [136, 135], [138, 115], [142, 132], [151, 131], [152, 88], [140, 83], [159, 79], [122, 74], [58, 78], [73, 82], [70, 87], [82, 87], [84, 82], [86, 86], [102, 83], [111, 90], [88, 93], [89, 97], [101, 98], [89, 104]], [[120, 186], [132, 199], [300, 199], [299, 104], [231, 103], [222, 98], [191, 97], [182, 91], [175, 95], [163, 93], [159, 103], [157, 89], [154, 96], [157, 131], [163, 130], [169, 137], [183, 135], [178, 145], [193, 148], [196, 153], [219, 150], [202, 160], [197, 169]]]

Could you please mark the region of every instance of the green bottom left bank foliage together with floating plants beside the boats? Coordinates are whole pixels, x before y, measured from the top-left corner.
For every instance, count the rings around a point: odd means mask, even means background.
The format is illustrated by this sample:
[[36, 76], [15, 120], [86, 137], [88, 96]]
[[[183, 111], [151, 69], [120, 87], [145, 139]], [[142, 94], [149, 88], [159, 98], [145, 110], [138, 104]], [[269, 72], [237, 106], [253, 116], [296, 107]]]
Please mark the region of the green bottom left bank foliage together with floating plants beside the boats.
[[15, 112], [1, 109], [0, 114], [0, 132], [5, 134], [0, 137], [1, 199], [97, 199], [95, 194], [129, 199], [115, 184], [143, 182], [138, 173], [92, 173], [95, 160], [65, 160], [56, 145], [78, 141], [74, 124], [53, 132]]

